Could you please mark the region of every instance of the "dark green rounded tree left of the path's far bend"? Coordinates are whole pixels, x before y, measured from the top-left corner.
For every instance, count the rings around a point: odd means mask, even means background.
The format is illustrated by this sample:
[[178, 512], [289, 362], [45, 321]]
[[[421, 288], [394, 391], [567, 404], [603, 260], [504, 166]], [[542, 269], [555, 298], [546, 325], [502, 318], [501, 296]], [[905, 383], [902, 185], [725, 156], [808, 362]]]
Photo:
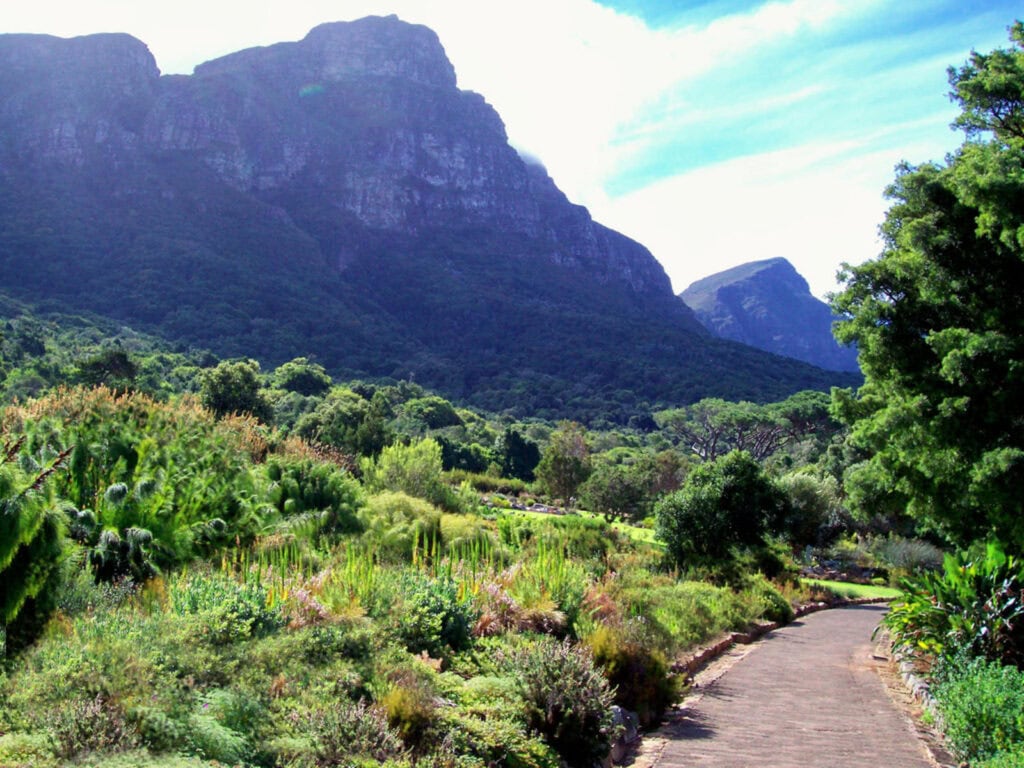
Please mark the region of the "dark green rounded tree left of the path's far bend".
[[750, 454], [734, 451], [694, 469], [654, 514], [669, 561], [684, 565], [760, 543], [785, 519], [785, 498]]

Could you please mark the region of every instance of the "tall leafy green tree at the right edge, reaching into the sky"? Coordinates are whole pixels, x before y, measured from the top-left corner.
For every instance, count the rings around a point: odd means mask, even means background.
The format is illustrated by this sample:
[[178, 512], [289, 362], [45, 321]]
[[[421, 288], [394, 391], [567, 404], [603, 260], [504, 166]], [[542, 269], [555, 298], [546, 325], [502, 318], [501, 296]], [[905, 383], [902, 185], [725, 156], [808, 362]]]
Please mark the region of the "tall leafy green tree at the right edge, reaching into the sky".
[[902, 506], [951, 541], [1024, 547], [1024, 26], [950, 70], [968, 139], [901, 165], [882, 255], [844, 265], [837, 338], [864, 386], [835, 413], [867, 455], [851, 503]]

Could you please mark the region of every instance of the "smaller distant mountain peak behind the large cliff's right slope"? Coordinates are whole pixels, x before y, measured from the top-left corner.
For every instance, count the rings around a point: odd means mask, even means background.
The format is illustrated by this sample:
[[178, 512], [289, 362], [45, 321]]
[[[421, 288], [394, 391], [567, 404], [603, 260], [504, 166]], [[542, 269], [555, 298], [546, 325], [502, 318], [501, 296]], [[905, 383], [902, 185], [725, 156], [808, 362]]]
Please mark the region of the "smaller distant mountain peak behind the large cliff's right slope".
[[857, 350], [831, 334], [835, 316], [782, 258], [753, 261], [699, 280], [681, 294], [705, 328], [723, 339], [857, 373]]

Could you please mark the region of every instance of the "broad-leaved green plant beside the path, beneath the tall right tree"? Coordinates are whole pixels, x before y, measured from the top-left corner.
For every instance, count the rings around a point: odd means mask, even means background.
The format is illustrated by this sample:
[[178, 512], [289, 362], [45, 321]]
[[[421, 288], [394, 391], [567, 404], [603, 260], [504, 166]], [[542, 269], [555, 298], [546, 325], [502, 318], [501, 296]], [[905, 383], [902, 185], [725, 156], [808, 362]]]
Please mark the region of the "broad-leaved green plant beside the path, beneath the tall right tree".
[[946, 555], [941, 573], [902, 586], [904, 596], [883, 618], [897, 647], [1024, 665], [1024, 563], [998, 545]]

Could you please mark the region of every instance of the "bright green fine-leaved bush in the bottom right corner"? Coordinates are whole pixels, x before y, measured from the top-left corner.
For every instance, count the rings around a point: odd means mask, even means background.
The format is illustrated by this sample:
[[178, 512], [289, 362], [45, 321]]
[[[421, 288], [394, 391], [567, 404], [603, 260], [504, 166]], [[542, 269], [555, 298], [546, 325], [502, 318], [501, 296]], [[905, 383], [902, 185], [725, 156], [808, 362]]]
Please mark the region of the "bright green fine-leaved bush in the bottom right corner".
[[1024, 750], [1024, 671], [983, 658], [951, 662], [932, 693], [946, 742], [959, 759], [975, 765]]

